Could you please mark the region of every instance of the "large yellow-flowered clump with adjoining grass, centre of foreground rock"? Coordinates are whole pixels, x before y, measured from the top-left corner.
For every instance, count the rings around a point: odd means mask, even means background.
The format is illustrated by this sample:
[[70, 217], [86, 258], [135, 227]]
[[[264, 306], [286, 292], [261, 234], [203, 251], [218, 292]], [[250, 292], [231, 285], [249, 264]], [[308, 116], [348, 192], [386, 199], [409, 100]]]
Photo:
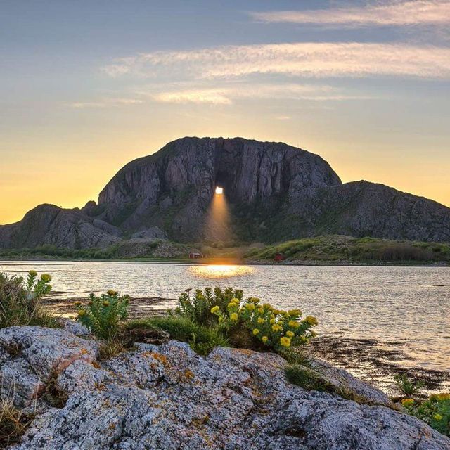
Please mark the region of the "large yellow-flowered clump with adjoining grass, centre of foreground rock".
[[282, 311], [255, 297], [244, 300], [242, 290], [206, 288], [191, 295], [188, 289], [168, 316], [131, 321], [127, 328], [160, 328], [200, 354], [217, 345], [283, 354], [315, 335], [316, 319], [301, 316], [298, 309]]

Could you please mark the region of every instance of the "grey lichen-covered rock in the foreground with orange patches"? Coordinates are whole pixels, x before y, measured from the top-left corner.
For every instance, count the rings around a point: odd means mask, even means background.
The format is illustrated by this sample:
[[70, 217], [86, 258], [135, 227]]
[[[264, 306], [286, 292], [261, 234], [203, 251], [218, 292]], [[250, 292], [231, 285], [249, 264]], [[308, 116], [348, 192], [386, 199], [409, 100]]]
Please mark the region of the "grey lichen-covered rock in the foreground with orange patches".
[[274, 354], [217, 348], [203, 358], [169, 341], [99, 362], [93, 342], [39, 327], [1, 330], [0, 344], [2, 371], [25, 361], [68, 395], [15, 449], [450, 449], [416, 418], [290, 385]]

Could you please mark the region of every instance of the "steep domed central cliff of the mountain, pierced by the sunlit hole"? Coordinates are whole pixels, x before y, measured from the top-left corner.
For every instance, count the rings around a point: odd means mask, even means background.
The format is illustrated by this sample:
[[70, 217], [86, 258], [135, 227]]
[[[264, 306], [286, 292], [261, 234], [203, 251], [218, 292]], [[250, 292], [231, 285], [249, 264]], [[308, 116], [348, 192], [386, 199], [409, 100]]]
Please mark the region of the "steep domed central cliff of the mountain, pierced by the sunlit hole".
[[322, 158], [284, 143], [184, 138], [120, 170], [98, 210], [124, 229], [160, 226], [175, 240], [192, 241], [205, 238], [216, 186], [231, 207], [250, 207], [258, 219], [304, 192], [339, 184]]

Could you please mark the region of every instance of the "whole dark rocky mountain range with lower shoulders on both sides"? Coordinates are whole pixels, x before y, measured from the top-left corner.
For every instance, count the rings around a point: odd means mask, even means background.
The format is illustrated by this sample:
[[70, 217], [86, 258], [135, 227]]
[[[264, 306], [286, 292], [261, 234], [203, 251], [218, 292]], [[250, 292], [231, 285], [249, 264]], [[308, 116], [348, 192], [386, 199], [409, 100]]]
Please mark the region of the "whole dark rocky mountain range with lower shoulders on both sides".
[[285, 143], [191, 138], [125, 165], [98, 204], [41, 205], [0, 226], [0, 248], [51, 243], [102, 248], [124, 236], [189, 243], [214, 239], [206, 226], [224, 188], [230, 236], [274, 242], [319, 234], [448, 241], [450, 208], [381, 184], [342, 184], [320, 156]]

